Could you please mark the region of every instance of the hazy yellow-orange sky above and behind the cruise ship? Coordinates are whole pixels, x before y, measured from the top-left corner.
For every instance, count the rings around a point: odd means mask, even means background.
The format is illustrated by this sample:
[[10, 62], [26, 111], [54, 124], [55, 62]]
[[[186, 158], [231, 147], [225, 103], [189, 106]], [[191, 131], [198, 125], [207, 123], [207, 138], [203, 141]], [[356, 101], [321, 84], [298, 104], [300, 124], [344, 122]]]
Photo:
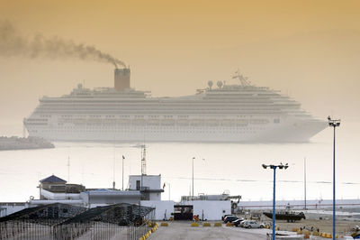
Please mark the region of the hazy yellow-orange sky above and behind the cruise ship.
[[[357, 121], [360, 1], [0, 0], [0, 21], [31, 38], [94, 45], [125, 61], [131, 86], [192, 94], [240, 69], [316, 116]], [[0, 131], [22, 125], [43, 95], [78, 82], [112, 86], [110, 64], [0, 56]]]

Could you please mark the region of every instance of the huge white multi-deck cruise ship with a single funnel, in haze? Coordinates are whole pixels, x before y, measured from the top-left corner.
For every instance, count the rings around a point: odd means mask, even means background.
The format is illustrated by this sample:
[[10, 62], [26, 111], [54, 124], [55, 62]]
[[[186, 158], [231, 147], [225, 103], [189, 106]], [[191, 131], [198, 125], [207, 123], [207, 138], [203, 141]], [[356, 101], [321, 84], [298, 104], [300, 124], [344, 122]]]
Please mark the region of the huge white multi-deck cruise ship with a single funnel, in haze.
[[308, 142], [327, 127], [280, 91], [212, 81], [191, 96], [151, 97], [130, 88], [130, 69], [115, 69], [114, 88], [84, 88], [42, 97], [24, 118], [30, 136], [50, 141]]

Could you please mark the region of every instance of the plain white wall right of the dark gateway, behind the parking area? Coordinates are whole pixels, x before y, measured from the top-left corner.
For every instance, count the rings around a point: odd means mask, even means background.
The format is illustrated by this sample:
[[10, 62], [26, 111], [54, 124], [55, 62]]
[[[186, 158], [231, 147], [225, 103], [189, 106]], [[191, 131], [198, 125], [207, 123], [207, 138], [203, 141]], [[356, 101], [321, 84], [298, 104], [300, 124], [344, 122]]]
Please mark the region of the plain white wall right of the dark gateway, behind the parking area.
[[193, 205], [193, 215], [199, 215], [200, 219], [221, 220], [225, 214], [231, 214], [230, 201], [183, 201], [183, 205]]

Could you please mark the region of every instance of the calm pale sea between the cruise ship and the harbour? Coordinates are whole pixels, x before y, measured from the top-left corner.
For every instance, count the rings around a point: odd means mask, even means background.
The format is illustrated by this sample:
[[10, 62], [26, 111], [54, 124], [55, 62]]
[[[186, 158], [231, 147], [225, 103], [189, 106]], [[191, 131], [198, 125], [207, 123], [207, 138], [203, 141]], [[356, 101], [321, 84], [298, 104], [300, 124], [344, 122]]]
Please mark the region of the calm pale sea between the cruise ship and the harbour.
[[[358, 198], [360, 193], [360, 130], [357, 124], [342, 123], [337, 130], [337, 196]], [[289, 163], [277, 171], [277, 199], [302, 199], [304, 158], [307, 198], [332, 198], [332, 129], [325, 129], [310, 143], [147, 143], [147, 174], [161, 174], [166, 182], [162, 198], [179, 200], [189, 195], [194, 160], [194, 193], [220, 194], [229, 191], [243, 199], [269, 200], [273, 171], [262, 163]], [[0, 201], [39, 198], [39, 180], [55, 174], [87, 188], [124, 188], [128, 175], [140, 173], [139, 143], [55, 143], [55, 149], [0, 152]], [[68, 161], [69, 160], [69, 161]], [[69, 166], [67, 163], [69, 162]], [[69, 173], [69, 174], [68, 174]]]

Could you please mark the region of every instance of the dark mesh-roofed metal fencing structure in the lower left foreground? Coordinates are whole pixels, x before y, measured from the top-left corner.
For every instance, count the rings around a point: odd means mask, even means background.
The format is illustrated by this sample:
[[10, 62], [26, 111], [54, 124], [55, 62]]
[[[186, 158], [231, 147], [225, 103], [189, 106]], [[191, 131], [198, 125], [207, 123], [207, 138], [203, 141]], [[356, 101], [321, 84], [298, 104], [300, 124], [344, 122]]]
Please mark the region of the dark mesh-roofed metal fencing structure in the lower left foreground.
[[154, 208], [114, 204], [78, 208], [51, 204], [0, 218], [0, 240], [138, 240], [154, 219]]

